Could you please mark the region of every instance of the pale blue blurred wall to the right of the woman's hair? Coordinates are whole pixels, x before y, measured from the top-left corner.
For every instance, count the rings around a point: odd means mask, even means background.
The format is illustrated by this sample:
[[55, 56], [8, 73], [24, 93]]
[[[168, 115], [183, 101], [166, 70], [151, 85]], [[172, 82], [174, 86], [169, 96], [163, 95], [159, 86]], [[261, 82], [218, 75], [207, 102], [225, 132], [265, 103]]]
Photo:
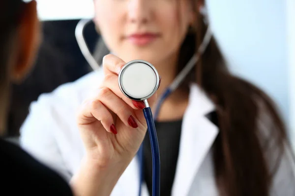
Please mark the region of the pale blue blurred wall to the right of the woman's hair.
[[231, 69], [274, 98], [288, 122], [285, 1], [207, 0], [207, 7]]

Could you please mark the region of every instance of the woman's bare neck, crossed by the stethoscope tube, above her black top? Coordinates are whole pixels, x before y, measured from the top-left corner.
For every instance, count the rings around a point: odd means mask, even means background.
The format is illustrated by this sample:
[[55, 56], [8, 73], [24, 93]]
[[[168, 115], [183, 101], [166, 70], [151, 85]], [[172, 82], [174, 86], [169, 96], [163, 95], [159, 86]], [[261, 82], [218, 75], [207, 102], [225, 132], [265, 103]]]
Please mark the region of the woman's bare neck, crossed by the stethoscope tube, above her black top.
[[[170, 58], [163, 62], [154, 64], [159, 75], [161, 76], [161, 85], [157, 90], [158, 95], [162, 95], [165, 89], [173, 82], [177, 76], [177, 54], [171, 55]], [[163, 102], [158, 121], [174, 121], [182, 118], [188, 103], [188, 92], [177, 89]]]

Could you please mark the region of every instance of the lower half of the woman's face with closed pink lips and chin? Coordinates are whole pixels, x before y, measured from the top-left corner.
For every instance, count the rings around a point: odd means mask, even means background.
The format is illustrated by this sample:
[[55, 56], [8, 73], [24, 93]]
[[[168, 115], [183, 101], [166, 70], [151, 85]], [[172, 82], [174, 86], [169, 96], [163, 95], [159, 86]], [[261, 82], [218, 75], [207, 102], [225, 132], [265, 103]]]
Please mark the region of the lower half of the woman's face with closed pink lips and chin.
[[125, 62], [157, 64], [177, 55], [194, 20], [190, 0], [94, 0], [94, 5], [106, 45]]

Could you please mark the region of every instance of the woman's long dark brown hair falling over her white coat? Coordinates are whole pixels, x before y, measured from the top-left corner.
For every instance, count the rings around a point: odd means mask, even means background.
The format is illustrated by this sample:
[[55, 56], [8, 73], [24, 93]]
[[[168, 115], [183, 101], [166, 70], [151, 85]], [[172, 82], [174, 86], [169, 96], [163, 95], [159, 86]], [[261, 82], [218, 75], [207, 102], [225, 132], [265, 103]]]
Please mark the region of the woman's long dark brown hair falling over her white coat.
[[[192, 1], [197, 5], [198, 0]], [[178, 72], [197, 52], [207, 30], [203, 16], [196, 14], [195, 30], [189, 31], [180, 48]], [[101, 39], [96, 60], [101, 63], [108, 52]], [[284, 144], [290, 147], [273, 101], [228, 70], [214, 38], [181, 88], [191, 81], [199, 84], [216, 107], [220, 131], [213, 144], [213, 161], [220, 195], [268, 196]]]

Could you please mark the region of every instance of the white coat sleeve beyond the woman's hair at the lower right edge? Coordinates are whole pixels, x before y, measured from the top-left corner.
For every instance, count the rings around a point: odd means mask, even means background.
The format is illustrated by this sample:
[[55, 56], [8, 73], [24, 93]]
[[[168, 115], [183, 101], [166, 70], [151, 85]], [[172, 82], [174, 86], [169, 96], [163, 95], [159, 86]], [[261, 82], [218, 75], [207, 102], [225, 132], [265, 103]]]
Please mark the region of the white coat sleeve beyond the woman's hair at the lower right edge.
[[[278, 134], [278, 131], [263, 106], [262, 111], [258, 122], [260, 127], [259, 136], [265, 151], [269, 171], [275, 171], [270, 196], [295, 196], [294, 151], [287, 146], [286, 141], [283, 145], [283, 150], [277, 147], [277, 137], [275, 136]], [[275, 165], [276, 163], [278, 165]]]

